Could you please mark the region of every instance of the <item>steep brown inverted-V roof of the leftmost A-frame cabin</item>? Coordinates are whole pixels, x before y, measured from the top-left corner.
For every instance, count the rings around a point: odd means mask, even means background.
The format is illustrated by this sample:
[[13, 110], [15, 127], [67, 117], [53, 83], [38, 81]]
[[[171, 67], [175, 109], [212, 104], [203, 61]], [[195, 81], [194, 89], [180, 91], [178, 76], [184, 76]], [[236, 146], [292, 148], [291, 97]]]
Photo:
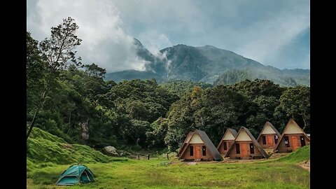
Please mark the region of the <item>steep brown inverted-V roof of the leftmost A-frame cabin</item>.
[[200, 138], [202, 139], [203, 143], [207, 148], [209, 149], [211, 155], [214, 157], [214, 160], [223, 160], [221, 154], [218, 152], [216, 146], [212, 143], [212, 141], [209, 139], [208, 135], [202, 131], [202, 130], [195, 130], [193, 132], [189, 132], [186, 139], [184, 140], [182, 147], [178, 153], [179, 158], [183, 155], [183, 153], [186, 151], [186, 146], [185, 144], [189, 144], [190, 139], [194, 136], [194, 134], [198, 134]]

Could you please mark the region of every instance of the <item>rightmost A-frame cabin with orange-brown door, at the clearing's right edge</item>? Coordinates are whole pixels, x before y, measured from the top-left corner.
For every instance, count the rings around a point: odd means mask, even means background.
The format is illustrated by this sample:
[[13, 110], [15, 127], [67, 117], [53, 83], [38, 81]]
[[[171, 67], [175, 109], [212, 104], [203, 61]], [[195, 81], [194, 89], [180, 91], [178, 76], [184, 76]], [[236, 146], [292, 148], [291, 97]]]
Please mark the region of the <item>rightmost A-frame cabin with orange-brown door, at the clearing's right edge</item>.
[[289, 153], [297, 148], [309, 145], [310, 139], [295, 120], [290, 119], [282, 132], [279, 143], [274, 148], [275, 153]]

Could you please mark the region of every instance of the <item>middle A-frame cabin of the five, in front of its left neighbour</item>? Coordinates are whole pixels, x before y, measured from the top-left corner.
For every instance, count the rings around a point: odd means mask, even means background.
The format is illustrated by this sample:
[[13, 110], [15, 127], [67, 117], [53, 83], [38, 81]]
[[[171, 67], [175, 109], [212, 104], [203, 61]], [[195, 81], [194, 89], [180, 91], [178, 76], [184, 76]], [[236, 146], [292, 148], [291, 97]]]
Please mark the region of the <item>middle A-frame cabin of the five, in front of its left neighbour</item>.
[[269, 155], [260, 146], [246, 127], [241, 127], [235, 141], [230, 146], [224, 158], [230, 159], [259, 159]]

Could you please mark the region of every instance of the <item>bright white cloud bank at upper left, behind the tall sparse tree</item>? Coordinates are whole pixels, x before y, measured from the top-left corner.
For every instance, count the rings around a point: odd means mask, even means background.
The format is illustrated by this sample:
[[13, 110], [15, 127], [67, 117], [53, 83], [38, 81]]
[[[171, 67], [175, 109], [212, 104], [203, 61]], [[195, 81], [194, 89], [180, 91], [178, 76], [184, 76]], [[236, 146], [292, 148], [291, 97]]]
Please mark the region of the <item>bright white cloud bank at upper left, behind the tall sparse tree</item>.
[[144, 69], [136, 54], [133, 37], [123, 30], [120, 12], [111, 1], [27, 1], [27, 31], [38, 41], [50, 36], [50, 28], [71, 16], [83, 39], [77, 55], [108, 72]]

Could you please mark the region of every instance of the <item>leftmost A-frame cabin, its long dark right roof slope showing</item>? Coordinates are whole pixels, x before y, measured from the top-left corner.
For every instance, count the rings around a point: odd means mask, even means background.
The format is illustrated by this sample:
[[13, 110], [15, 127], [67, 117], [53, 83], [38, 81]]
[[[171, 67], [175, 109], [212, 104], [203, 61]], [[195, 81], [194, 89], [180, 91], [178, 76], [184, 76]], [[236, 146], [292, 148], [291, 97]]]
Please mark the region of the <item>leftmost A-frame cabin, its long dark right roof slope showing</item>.
[[216, 146], [202, 130], [189, 132], [177, 154], [179, 160], [219, 161], [223, 160]]

